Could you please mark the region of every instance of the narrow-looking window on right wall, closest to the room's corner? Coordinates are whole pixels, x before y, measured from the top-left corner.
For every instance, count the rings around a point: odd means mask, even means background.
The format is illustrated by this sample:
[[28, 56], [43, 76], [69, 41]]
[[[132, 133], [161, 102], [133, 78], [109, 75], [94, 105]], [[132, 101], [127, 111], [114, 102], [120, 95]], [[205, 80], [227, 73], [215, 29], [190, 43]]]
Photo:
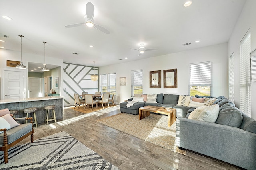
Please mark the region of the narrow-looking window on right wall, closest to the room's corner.
[[234, 53], [228, 63], [228, 99], [234, 103]]

